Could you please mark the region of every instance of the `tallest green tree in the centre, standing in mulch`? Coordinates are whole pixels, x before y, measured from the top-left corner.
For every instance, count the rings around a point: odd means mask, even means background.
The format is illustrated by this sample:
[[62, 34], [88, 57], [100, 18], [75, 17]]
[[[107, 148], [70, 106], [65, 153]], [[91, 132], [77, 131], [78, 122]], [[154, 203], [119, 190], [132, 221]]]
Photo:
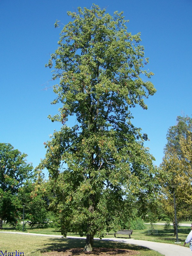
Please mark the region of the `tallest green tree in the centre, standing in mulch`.
[[147, 134], [132, 125], [131, 107], [147, 109], [144, 99], [156, 89], [148, 81], [153, 73], [144, 69], [140, 34], [127, 32], [123, 12], [111, 16], [93, 5], [68, 15], [72, 20], [46, 65], [55, 66], [53, 80], [59, 80], [52, 102], [60, 102], [59, 113], [49, 118], [63, 126], [46, 143], [40, 167], [50, 173], [62, 234], [86, 233], [84, 251], [92, 251], [108, 216], [116, 222], [127, 212], [128, 218], [132, 199], [149, 200], [154, 192]]

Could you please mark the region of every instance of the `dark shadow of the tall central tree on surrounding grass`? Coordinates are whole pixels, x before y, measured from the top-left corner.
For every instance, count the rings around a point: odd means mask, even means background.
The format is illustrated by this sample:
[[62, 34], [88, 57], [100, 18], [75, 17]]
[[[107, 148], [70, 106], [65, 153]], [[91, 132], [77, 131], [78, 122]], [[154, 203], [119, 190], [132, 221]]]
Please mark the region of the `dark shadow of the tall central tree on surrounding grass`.
[[[85, 246], [85, 239], [76, 239], [76, 238], [50, 238], [47, 242], [43, 245], [43, 248], [37, 249], [36, 251], [32, 252], [35, 253], [37, 251], [44, 253], [44, 252], [65, 252], [67, 249], [70, 248], [83, 248]], [[119, 254], [119, 249], [125, 249], [125, 250], [134, 250], [136, 252], [142, 251], [150, 251], [150, 249], [146, 247], [142, 247], [139, 245], [134, 244], [125, 244], [120, 242], [114, 242], [114, 241], [105, 241], [105, 240], [94, 240], [94, 248], [93, 248], [93, 254], [97, 255], [98, 250], [97, 248], [111, 248], [113, 249], [113, 253], [111, 250], [107, 253], [108, 255], [116, 255]], [[100, 249], [99, 249], [100, 250]], [[95, 251], [95, 252], [94, 252]], [[121, 251], [121, 253], [125, 253], [125, 251]], [[70, 255], [80, 255], [79, 251], [76, 250], [70, 250]], [[99, 255], [99, 254], [98, 254]]]

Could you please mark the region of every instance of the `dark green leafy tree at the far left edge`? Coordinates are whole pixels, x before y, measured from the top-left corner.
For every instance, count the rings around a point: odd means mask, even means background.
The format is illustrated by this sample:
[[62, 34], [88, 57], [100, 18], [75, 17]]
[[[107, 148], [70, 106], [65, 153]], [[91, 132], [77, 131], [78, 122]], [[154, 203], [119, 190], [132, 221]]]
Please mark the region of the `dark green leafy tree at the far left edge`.
[[33, 177], [33, 166], [26, 157], [11, 144], [0, 143], [0, 229], [3, 220], [15, 222], [22, 209], [19, 190]]

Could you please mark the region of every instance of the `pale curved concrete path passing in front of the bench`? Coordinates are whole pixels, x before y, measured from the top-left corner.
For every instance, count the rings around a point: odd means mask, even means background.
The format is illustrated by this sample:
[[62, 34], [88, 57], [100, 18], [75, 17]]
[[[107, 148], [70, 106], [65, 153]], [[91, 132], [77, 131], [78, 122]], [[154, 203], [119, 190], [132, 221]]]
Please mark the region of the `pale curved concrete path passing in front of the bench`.
[[[35, 234], [35, 233], [24, 233], [24, 232], [11, 232], [11, 231], [0, 231], [2, 233], [12, 233], [12, 234], [20, 234], [20, 235], [31, 235], [31, 236], [49, 236], [49, 237], [58, 237], [61, 238], [59, 235], [45, 235], [45, 234]], [[79, 239], [86, 239], [86, 237], [80, 236], [67, 236], [67, 238], [79, 238]], [[94, 238], [99, 239], [99, 238]], [[122, 239], [122, 238], [102, 238], [102, 240], [106, 241], [115, 241], [121, 242], [126, 244], [136, 244], [140, 246], [147, 247], [151, 250], [157, 251], [165, 256], [192, 256], [192, 251], [188, 247], [180, 246], [178, 244], [165, 244], [165, 243], [157, 243], [157, 242], [150, 242], [145, 240], [136, 240], [136, 239]], [[182, 243], [181, 243], [182, 244]]]

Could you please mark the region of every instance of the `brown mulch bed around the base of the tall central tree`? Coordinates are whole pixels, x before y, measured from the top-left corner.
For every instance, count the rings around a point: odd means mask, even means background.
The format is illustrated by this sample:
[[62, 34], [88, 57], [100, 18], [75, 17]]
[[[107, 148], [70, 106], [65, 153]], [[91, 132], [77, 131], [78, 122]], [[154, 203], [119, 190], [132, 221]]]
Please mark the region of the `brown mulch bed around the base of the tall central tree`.
[[63, 250], [55, 250], [51, 252], [44, 252], [44, 256], [126, 256], [126, 255], [138, 255], [140, 252], [128, 249], [112, 249], [112, 248], [94, 248], [92, 252], [84, 252], [83, 248], [70, 248]]

